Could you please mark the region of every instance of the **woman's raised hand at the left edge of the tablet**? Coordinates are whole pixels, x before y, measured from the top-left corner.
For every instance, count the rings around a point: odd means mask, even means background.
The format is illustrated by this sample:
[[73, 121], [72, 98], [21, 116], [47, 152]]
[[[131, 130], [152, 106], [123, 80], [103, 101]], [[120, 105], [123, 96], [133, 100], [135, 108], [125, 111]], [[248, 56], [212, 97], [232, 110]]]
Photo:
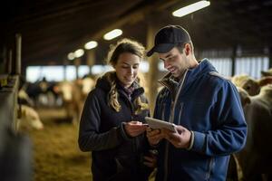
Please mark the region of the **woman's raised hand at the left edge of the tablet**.
[[143, 133], [147, 127], [147, 124], [142, 124], [140, 121], [126, 122], [124, 125], [126, 133], [131, 137], [141, 135], [141, 133]]

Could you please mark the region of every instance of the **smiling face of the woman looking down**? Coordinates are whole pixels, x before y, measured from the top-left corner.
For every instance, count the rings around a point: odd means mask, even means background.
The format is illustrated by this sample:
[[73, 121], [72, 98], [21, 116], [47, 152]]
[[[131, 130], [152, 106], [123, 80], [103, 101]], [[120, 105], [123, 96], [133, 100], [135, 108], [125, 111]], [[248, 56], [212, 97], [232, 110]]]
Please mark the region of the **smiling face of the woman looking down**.
[[125, 88], [129, 88], [136, 80], [141, 58], [131, 52], [122, 52], [113, 66], [117, 78]]

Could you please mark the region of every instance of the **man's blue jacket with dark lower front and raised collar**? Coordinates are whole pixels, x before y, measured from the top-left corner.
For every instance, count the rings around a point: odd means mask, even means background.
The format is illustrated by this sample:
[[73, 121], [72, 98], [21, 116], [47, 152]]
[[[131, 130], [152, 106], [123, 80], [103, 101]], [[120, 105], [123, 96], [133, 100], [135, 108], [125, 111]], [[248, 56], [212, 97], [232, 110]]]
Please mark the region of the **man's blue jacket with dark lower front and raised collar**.
[[[154, 118], [193, 132], [191, 148], [159, 145], [161, 180], [226, 180], [229, 154], [244, 147], [247, 124], [236, 87], [203, 60], [179, 82], [169, 74], [157, 97]], [[173, 96], [175, 95], [175, 96]]]

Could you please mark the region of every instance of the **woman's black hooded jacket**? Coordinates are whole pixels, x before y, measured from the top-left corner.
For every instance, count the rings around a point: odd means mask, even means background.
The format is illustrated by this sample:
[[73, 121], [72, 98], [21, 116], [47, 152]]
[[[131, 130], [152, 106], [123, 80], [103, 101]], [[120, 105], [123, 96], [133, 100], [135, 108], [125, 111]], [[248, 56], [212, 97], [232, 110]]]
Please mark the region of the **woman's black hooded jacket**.
[[[111, 72], [114, 74], [115, 72]], [[135, 81], [131, 97], [117, 82], [119, 112], [109, 106], [108, 93], [111, 85], [106, 76], [100, 78], [85, 101], [80, 123], [78, 144], [83, 151], [92, 151], [92, 179], [104, 180], [147, 180], [150, 169], [141, 163], [142, 154], [149, 146], [144, 134], [131, 138], [123, 128], [123, 122], [138, 120], [143, 122], [149, 110], [136, 113], [135, 100], [144, 90]]]

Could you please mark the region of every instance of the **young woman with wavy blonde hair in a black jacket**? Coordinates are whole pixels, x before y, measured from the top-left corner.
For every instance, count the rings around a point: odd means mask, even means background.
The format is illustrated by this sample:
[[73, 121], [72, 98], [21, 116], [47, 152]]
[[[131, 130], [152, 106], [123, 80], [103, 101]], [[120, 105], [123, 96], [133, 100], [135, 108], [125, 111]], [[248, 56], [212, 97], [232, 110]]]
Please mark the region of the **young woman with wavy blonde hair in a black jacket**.
[[98, 79], [85, 102], [79, 130], [79, 147], [92, 151], [92, 178], [103, 180], [148, 180], [151, 157], [144, 135], [144, 117], [149, 115], [138, 71], [144, 47], [123, 39], [111, 47], [108, 61], [115, 71]]

